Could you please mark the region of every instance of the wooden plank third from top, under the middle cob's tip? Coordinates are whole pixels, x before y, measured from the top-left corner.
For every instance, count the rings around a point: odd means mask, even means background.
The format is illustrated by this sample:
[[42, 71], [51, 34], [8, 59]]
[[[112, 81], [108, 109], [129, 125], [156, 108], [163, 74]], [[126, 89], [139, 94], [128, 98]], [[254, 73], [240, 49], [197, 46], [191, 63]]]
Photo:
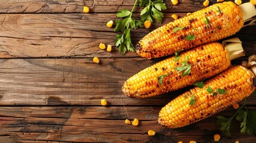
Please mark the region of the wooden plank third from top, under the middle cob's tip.
[[[109, 105], [165, 105], [188, 88], [146, 100], [122, 96], [125, 80], [155, 62], [143, 58], [101, 58], [100, 64], [90, 58], [0, 60], [0, 105], [99, 105], [102, 98]], [[249, 105], [255, 102], [255, 96], [249, 97]]]

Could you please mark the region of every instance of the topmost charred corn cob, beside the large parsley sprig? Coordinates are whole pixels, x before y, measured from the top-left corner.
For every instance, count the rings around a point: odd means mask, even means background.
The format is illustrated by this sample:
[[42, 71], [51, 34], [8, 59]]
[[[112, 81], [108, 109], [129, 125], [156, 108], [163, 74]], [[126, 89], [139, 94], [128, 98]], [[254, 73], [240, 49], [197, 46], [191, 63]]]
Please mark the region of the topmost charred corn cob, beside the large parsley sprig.
[[[248, 5], [253, 6], [251, 12], [243, 10]], [[243, 16], [253, 15], [256, 10], [250, 2], [239, 7], [231, 1], [214, 4], [153, 30], [138, 42], [135, 50], [149, 59], [171, 55], [233, 35], [243, 27]]]

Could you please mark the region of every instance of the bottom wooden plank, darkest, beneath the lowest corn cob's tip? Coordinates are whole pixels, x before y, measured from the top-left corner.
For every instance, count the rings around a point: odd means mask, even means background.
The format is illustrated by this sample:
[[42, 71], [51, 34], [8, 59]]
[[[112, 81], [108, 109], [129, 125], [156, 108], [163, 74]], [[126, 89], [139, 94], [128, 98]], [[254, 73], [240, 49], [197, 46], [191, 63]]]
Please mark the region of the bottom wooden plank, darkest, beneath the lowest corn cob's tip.
[[[216, 116], [232, 116], [235, 110], [231, 107], [178, 129], [158, 125], [160, 107], [127, 107], [129, 117], [120, 107], [0, 107], [0, 110], [0, 136], [10, 142], [213, 142], [214, 133], [220, 133], [220, 142], [255, 139], [254, 135], [240, 133], [235, 120], [230, 128], [232, 138], [219, 130]], [[134, 117], [140, 120], [138, 126], [124, 123]], [[155, 130], [156, 136], [148, 136], [149, 129]]]

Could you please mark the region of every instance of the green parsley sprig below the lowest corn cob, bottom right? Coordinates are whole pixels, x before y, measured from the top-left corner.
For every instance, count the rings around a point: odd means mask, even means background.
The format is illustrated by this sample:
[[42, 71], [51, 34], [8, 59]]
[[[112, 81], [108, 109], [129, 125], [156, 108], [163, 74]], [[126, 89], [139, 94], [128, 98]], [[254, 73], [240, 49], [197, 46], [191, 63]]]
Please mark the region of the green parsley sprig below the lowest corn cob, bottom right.
[[[223, 116], [217, 116], [217, 124], [220, 125], [220, 129], [226, 131], [227, 136], [230, 135], [230, 125], [233, 120], [233, 118], [236, 117], [236, 120], [240, 122], [240, 132], [241, 133], [248, 133], [249, 135], [252, 135], [252, 133], [256, 133], [256, 111], [249, 111], [246, 108], [245, 101], [243, 102], [243, 105], [240, 106], [238, 111], [227, 119]], [[243, 110], [244, 109], [244, 110]]]

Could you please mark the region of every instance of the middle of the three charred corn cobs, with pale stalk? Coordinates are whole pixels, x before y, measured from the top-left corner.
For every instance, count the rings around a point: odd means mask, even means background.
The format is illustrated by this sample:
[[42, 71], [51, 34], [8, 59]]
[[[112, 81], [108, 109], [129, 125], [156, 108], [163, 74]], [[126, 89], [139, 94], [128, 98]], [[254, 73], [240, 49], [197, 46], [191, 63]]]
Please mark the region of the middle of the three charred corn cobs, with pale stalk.
[[[175, 56], [166, 58], [130, 77], [122, 86], [122, 91], [129, 97], [146, 98], [184, 88], [214, 76], [226, 70], [230, 66], [230, 60], [244, 54], [241, 43], [229, 45], [223, 48], [218, 42], [207, 43], [183, 52], [178, 60]], [[187, 63], [191, 65], [191, 71], [184, 76], [182, 72], [178, 73], [175, 67], [181, 66], [186, 61], [186, 57]], [[159, 83], [161, 76], [165, 76], [162, 77], [162, 84]]]

